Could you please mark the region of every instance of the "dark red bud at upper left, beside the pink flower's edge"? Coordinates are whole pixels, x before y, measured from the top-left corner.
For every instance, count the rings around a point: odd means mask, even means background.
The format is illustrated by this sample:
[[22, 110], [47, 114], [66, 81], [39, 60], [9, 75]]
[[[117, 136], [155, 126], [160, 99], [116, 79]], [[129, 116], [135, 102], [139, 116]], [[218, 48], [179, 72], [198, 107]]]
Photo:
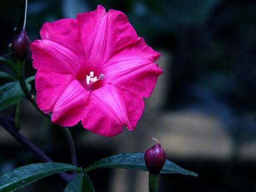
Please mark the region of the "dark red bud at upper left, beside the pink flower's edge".
[[30, 39], [25, 31], [22, 29], [17, 34], [12, 42], [12, 52], [15, 58], [25, 59], [28, 57], [30, 51]]

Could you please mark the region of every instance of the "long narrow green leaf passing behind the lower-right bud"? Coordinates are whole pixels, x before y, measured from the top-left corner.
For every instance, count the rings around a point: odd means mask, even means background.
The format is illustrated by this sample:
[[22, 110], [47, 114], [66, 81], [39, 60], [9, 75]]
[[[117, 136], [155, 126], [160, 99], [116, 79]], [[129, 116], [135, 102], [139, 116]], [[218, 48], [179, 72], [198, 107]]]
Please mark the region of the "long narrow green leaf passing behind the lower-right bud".
[[[84, 172], [87, 173], [90, 170], [105, 167], [147, 171], [144, 161], [144, 153], [124, 153], [102, 158], [85, 168]], [[160, 173], [178, 173], [195, 177], [198, 176], [198, 174], [185, 170], [169, 160], [165, 161], [165, 165]]]

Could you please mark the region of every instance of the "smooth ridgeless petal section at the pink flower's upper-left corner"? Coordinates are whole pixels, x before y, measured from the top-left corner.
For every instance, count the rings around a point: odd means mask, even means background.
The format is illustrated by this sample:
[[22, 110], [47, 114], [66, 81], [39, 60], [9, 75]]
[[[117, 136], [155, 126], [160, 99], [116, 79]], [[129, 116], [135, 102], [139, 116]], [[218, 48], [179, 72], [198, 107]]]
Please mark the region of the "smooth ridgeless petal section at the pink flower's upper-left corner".
[[80, 42], [79, 22], [77, 19], [60, 19], [46, 22], [40, 29], [42, 39], [49, 39], [70, 49], [79, 57], [84, 56], [84, 49]]

